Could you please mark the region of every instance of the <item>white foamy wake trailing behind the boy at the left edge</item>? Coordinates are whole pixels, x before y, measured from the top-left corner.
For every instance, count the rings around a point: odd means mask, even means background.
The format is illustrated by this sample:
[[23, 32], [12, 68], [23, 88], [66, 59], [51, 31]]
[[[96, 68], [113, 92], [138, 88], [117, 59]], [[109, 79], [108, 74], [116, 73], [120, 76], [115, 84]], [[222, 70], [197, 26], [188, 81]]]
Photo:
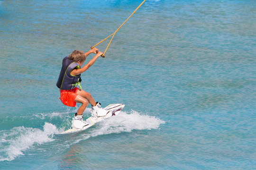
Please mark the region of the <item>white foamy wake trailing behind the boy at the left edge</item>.
[[10, 130], [2, 130], [0, 161], [11, 161], [33, 144], [43, 144], [53, 141], [57, 128], [50, 123], [45, 123], [44, 130], [32, 127], [14, 127]]

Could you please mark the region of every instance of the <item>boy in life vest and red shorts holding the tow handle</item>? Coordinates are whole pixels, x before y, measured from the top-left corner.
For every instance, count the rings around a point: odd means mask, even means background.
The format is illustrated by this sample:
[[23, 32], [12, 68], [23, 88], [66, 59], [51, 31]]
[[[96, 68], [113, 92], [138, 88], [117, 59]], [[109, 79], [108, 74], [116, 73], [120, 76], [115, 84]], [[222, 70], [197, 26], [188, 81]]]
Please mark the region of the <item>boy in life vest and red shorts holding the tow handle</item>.
[[[91, 53], [95, 53], [96, 55], [85, 66], [82, 67], [86, 57]], [[91, 94], [83, 91], [80, 85], [80, 82], [82, 81], [80, 78], [81, 73], [90, 68], [96, 59], [101, 55], [102, 52], [98, 51], [97, 48], [93, 48], [86, 53], [83, 53], [83, 51], [74, 50], [62, 61], [61, 72], [56, 83], [57, 87], [60, 89], [60, 100], [64, 105], [71, 107], [75, 107], [76, 102], [82, 103], [72, 120], [73, 128], [82, 129], [82, 127], [88, 125], [83, 121], [82, 116], [88, 102], [91, 104], [92, 116], [100, 117], [105, 116], [108, 113], [108, 110], [101, 108], [101, 103], [96, 103], [91, 97]], [[76, 87], [77, 85], [79, 88]]]

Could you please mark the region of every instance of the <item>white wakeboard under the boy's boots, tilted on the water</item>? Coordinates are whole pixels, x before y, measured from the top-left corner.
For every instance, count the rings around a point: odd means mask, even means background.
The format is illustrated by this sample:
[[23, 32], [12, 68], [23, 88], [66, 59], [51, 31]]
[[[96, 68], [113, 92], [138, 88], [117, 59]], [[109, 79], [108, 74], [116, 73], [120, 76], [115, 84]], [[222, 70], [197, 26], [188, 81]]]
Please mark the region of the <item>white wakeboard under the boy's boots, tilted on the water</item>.
[[110, 104], [110, 105], [108, 105], [107, 107], [104, 108], [106, 110], [109, 110], [109, 112], [107, 113], [106, 116], [101, 116], [101, 117], [91, 116], [90, 118], [85, 120], [87, 125], [84, 126], [82, 129], [71, 128], [71, 129], [68, 129], [68, 130], [64, 131], [64, 134], [79, 132], [79, 131], [85, 130], [85, 129], [93, 126], [94, 124], [96, 124], [96, 123], [98, 123], [98, 122], [100, 122], [104, 119], [110, 118], [111, 116], [118, 115], [120, 113], [120, 111], [124, 108], [124, 106], [125, 106], [124, 104]]

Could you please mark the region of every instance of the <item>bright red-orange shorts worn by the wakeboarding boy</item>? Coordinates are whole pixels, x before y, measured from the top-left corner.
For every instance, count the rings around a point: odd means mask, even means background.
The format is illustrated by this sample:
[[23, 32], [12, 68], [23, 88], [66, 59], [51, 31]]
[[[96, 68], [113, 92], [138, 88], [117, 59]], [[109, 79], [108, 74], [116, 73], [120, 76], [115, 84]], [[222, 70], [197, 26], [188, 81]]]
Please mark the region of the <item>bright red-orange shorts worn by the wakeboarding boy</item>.
[[66, 106], [75, 107], [76, 102], [74, 100], [75, 100], [76, 96], [78, 95], [76, 93], [77, 91], [78, 91], [77, 87], [75, 87], [71, 90], [60, 90], [61, 102]]

